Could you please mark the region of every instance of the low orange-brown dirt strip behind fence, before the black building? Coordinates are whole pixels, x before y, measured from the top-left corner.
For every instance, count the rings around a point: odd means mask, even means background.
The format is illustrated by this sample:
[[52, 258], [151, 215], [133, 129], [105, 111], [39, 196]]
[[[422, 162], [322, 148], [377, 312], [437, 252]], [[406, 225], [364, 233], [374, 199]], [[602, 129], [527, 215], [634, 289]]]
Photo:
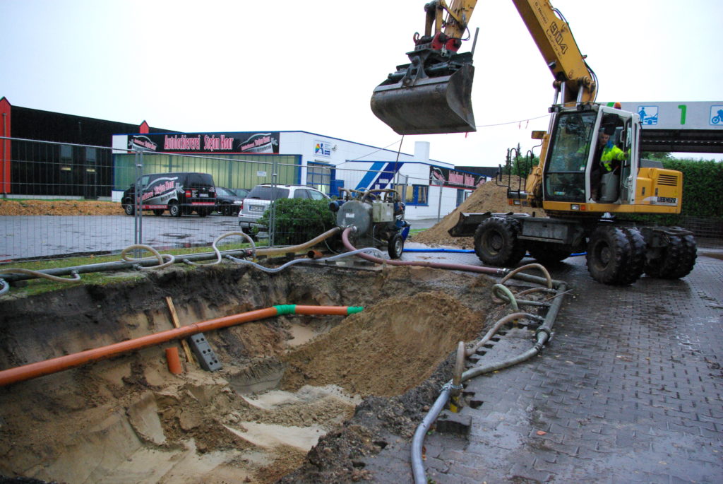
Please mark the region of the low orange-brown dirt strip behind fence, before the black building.
[[123, 215], [120, 203], [90, 200], [2, 200], [4, 215]]

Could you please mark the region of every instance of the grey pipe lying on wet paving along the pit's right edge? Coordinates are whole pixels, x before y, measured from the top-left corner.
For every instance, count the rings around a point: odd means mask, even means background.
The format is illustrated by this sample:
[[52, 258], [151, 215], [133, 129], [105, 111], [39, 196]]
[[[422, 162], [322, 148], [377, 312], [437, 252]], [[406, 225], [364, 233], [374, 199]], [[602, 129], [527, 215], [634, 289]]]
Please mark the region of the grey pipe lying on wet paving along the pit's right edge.
[[[542, 279], [544, 281], [543, 278], [536, 279]], [[564, 281], [552, 281], [552, 285], [555, 286], [558, 294], [563, 294], [568, 289], [568, 286]], [[549, 307], [549, 310], [547, 311], [547, 315], [545, 315], [544, 323], [542, 323], [542, 326], [537, 328], [537, 331], [535, 332], [535, 338], [537, 341], [534, 344], [534, 347], [517, 357], [510, 358], [509, 360], [471, 368], [462, 374], [461, 381], [467, 381], [470, 378], [483, 375], [484, 373], [508, 368], [539, 354], [539, 352], [542, 351], [544, 344], [549, 340], [550, 336], [552, 336], [552, 325], [555, 324], [555, 319], [557, 318], [557, 313], [560, 312], [561, 305], [562, 297], [555, 297]], [[429, 430], [429, 427], [442, 411], [442, 408], [448, 402], [449, 397], [450, 383], [446, 383], [445, 386], [442, 387], [440, 395], [437, 396], [437, 400], [435, 400], [435, 403], [432, 405], [432, 409], [429, 410], [427, 416], [424, 417], [424, 420], [422, 420], [422, 424], [419, 425], [414, 433], [411, 445], [411, 467], [412, 475], [414, 476], [414, 484], [427, 484], [427, 475], [424, 472], [424, 464], [422, 463], [424, 436], [427, 434], [427, 430]]]

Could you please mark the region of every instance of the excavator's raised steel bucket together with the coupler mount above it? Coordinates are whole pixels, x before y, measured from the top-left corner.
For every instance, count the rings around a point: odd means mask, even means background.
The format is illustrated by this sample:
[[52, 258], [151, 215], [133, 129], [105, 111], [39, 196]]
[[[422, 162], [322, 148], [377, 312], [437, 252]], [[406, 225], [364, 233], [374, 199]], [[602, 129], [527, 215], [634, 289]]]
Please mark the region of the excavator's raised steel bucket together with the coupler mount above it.
[[410, 63], [375, 88], [372, 111], [399, 135], [476, 131], [472, 113], [472, 54], [409, 52]]

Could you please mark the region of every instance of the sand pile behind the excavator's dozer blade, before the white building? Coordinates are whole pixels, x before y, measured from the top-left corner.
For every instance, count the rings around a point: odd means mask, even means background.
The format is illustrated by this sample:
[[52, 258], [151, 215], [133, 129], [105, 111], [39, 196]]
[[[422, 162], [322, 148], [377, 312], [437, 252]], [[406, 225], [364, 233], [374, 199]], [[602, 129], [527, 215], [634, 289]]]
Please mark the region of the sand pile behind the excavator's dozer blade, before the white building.
[[[518, 186], [518, 178], [513, 177], [511, 185]], [[453, 247], [462, 247], [471, 249], [474, 247], [473, 237], [451, 237], [449, 229], [457, 224], [460, 213], [542, 213], [540, 208], [529, 208], [508, 205], [507, 187], [497, 186], [495, 181], [487, 182], [480, 185], [455, 211], [449, 213], [442, 218], [438, 224], [430, 229], [414, 234], [411, 236], [411, 242], [419, 242], [422, 244], [440, 246], [451, 245]], [[414, 228], [414, 221], [411, 221]]]

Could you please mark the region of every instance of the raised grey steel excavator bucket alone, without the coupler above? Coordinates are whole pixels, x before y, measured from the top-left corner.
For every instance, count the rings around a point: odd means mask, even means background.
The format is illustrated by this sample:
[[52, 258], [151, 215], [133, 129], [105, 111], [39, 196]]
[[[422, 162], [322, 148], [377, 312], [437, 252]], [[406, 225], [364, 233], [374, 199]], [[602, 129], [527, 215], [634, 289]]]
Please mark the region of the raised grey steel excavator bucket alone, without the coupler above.
[[382, 82], [372, 94], [372, 112], [399, 135], [476, 131], [472, 113], [474, 66], [437, 77], [405, 76]]

